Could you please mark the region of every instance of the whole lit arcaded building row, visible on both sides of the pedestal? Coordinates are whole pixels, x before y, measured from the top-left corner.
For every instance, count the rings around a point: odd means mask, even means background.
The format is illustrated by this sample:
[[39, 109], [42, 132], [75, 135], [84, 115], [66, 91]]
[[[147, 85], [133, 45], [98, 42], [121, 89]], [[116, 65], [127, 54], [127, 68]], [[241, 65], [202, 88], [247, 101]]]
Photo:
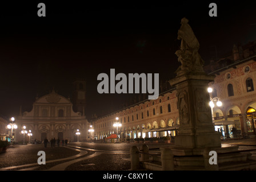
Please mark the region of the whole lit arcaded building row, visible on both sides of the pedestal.
[[[234, 46], [233, 53], [211, 61], [205, 72], [215, 75], [209, 87], [210, 99], [218, 98], [222, 106], [213, 107], [215, 130], [223, 138], [256, 135], [256, 41]], [[161, 87], [161, 86], [160, 86]], [[162, 88], [161, 88], [162, 89]], [[215, 103], [216, 105], [216, 103]], [[145, 138], [177, 135], [179, 112], [175, 88], [159, 94], [157, 100], [145, 100], [93, 121], [94, 138], [103, 139], [118, 127], [120, 138]], [[116, 121], [118, 117], [118, 121]], [[233, 128], [237, 129], [234, 136]]]

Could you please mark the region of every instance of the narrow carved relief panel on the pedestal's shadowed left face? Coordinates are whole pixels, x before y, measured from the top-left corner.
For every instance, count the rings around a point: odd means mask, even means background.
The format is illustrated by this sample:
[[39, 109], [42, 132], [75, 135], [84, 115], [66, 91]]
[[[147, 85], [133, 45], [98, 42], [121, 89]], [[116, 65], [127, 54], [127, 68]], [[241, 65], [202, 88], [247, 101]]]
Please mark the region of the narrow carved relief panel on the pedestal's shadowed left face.
[[178, 100], [179, 100], [180, 122], [184, 124], [188, 124], [190, 118], [189, 118], [189, 102], [188, 102], [186, 90], [179, 93]]

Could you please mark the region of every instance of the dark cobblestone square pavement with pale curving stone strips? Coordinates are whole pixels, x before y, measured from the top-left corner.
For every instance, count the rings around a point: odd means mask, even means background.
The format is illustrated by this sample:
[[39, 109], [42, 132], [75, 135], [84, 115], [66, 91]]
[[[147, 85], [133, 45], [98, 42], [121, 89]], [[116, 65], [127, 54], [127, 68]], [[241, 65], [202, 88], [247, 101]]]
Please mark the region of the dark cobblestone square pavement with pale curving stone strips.
[[[226, 140], [223, 144], [239, 144], [239, 150], [256, 148], [256, 138]], [[130, 148], [142, 143], [86, 143], [74, 142], [68, 147], [43, 147], [42, 144], [14, 146], [0, 154], [0, 170], [67, 170], [119, 171], [129, 170]], [[147, 144], [151, 151], [173, 144]], [[77, 148], [77, 149], [75, 149]], [[37, 164], [38, 151], [45, 151], [46, 165]], [[256, 151], [251, 152], [256, 156]]]

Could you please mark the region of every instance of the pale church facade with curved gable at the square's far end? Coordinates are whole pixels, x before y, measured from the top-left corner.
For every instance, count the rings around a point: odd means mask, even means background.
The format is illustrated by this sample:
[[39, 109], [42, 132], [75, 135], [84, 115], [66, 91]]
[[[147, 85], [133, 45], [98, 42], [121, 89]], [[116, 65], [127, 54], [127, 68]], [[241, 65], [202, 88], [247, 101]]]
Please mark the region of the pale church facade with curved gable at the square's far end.
[[[27, 132], [33, 134], [31, 140], [47, 138], [67, 139], [77, 142], [90, 139], [88, 132], [90, 124], [86, 116], [73, 111], [73, 104], [69, 98], [57, 94], [54, 90], [49, 94], [37, 98], [31, 111], [20, 113], [16, 123], [15, 141], [29, 140], [27, 134], [21, 134], [22, 127], [26, 126]], [[77, 131], [79, 130], [79, 135]]]

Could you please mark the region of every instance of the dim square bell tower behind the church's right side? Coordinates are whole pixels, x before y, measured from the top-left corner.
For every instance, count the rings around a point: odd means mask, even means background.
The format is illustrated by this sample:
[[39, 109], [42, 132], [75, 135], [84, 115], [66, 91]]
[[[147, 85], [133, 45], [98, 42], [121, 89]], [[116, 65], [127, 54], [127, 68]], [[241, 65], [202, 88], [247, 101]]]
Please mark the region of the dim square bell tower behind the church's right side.
[[73, 82], [73, 110], [85, 115], [86, 109], [86, 81], [85, 79]]

